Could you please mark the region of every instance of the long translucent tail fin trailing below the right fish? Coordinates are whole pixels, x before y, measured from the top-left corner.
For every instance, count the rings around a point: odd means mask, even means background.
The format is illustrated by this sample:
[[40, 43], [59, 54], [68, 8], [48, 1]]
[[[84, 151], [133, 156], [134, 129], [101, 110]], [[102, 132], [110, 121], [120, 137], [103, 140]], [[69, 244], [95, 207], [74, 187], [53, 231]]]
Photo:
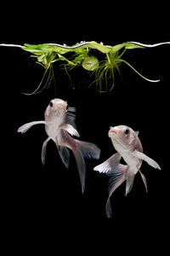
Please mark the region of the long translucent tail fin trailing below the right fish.
[[126, 170], [127, 170], [127, 166], [119, 164], [116, 167], [116, 169], [112, 170], [112, 172], [106, 173], [110, 177], [109, 185], [108, 185], [109, 197], [105, 205], [105, 213], [107, 218], [112, 217], [111, 200], [110, 200], [111, 195], [126, 180], [126, 175], [125, 175]]

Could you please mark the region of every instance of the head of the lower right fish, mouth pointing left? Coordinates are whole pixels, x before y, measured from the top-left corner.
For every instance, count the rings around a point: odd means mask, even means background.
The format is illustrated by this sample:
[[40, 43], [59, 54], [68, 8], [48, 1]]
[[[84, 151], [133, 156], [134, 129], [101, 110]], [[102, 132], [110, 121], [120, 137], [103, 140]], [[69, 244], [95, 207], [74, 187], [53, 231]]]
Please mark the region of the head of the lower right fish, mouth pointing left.
[[142, 151], [138, 134], [138, 131], [133, 131], [132, 128], [126, 125], [110, 127], [109, 131], [109, 137], [111, 137], [113, 146], [118, 152], [132, 151], [134, 149]]

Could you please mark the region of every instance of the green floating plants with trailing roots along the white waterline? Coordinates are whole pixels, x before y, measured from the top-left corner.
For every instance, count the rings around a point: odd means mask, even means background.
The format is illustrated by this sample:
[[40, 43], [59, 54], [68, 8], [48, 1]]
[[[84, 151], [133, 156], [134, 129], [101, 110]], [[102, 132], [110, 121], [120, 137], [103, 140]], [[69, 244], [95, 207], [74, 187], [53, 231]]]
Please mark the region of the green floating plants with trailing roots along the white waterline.
[[[130, 63], [122, 59], [122, 56], [128, 49], [144, 49], [156, 47], [162, 44], [170, 44], [170, 42], [160, 44], [141, 44], [137, 42], [127, 42], [116, 44], [114, 46], [104, 45], [102, 43], [81, 42], [72, 46], [66, 44], [25, 44], [24, 46], [15, 44], [0, 44], [0, 46], [20, 47], [31, 53], [32, 57], [37, 58], [37, 63], [44, 67], [45, 72], [42, 81], [31, 94], [38, 93], [42, 89], [47, 88], [54, 78], [54, 62], [62, 62], [66, 73], [73, 67], [82, 66], [94, 76], [92, 84], [96, 84], [99, 92], [112, 90], [115, 84], [115, 73], [120, 73], [122, 63], [132, 68], [142, 79], [149, 82], [159, 82], [159, 79], [147, 79], [139, 73]], [[100, 52], [97, 57], [97, 51]], [[101, 60], [99, 60], [101, 59]], [[110, 83], [108, 83], [108, 81]]]

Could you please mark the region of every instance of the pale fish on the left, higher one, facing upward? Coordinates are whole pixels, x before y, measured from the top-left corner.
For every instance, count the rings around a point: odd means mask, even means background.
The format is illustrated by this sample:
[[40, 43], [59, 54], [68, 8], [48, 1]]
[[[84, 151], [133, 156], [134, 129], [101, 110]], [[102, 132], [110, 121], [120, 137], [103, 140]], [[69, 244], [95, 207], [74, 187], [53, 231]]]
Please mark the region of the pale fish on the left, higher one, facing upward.
[[[54, 99], [49, 102], [45, 111], [45, 120], [34, 121], [20, 126], [18, 132], [24, 133], [32, 125], [44, 124], [48, 138], [42, 144], [42, 165], [45, 163], [46, 146], [50, 139], [56, 144], [59, 155], [65, 166], [69, 167], [70, 148], [77, 160], [77, 168], [82, 184], [82, 193], [85, 189], [86, 165], [84, 158], [99, 159], [100, 149], [94, 143], [78, 141], [71, 136], [79, 137], [76, 129], [76, 108], [68, 107], [67, 102]], [[70, 136], [71, 135], [71, 136]]]

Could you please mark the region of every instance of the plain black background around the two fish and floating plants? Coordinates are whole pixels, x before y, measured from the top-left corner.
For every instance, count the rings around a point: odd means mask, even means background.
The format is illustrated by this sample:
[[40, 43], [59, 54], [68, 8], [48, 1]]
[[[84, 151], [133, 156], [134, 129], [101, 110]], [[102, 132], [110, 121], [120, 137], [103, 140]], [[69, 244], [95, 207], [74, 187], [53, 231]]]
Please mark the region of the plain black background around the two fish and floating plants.
[[[139, 6], [137, 6], [139, 5]], [[27, 4], [20, 9], [4, 8], [1, 43], [75, 44], [81, 40], [114, 45], [126, 41], [156, 44], [170, 41], [166, 6], [141, 3], [127, 5], [81, 3], [44, 6]], [[8, 22], [7, 22], [8, 21]], [[1, 54], [1, 211], [2, 235], [6, 252], [94, 253], [100, 248], [119, 253], [139, 253], [146, 248], [167, 245], [168, 143], [169, 143], [169, 45], [154, 49], [129, 50], [124, 59], [150, 79], [151, 84], [122, 65], [122, 79], [116, 76], [114, 90], [100, 94], [95, 85], [88, 88], [90, 74], [75, 68], [71, 81], [54, 65], [55, 84], [41, 94], [26, 96], [42, 79], [42, 67], [30, 54], [14, 48], [0, 48]], [[73, 89], [74, 87], [74, 89]], [[26, 134], [20, 125], [43, 119], [48, 102], [60, 97], [77, 108], [77, 129], [81, 139], [101, 148], [100, 160], [87, 160], [86, 192], [81, 187], [76, 162], [71, 154], [67, 170], [54, 143], [49, 142], [46, 164], [40, 155], [46, 139], [43, 125]], [[125, 185], [111, 197], [113, 218], [105, 217], [107, 177], [93, 172], [94, 166], [115, 153], [108, 130], [111, 125], [129, 125], [139, 131], [144, 154], [156, 160], [161, 171], [143, 163], [141, 171], [148, 182], [148, 194], [136, 175], [131, 193]], [[138, 245], [139, 247], [135, 247]]]

